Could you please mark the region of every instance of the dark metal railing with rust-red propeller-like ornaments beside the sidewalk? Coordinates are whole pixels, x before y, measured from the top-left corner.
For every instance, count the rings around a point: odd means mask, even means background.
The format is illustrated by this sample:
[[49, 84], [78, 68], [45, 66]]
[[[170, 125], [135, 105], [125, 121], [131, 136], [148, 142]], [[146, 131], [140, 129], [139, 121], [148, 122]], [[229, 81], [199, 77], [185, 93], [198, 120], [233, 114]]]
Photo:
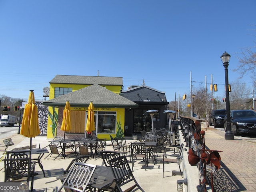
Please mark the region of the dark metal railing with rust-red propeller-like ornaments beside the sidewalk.
[[[180, 116], [180, 127], [186, 147], [189, 148], [188, 163], [196, 165], [198, 168], [199, 185], [197, 185], [197, 190], [206, 192], [206, 184], [210, 184], [212, 191], [214, 191], [213, 174], [220, 168], [219, 152], [221, 151], [206, 150], [204, 140], [206, 132], [201, 131], [200, 119]], [[187, 165], [186, 168], [189, 169], [189, 166]]]

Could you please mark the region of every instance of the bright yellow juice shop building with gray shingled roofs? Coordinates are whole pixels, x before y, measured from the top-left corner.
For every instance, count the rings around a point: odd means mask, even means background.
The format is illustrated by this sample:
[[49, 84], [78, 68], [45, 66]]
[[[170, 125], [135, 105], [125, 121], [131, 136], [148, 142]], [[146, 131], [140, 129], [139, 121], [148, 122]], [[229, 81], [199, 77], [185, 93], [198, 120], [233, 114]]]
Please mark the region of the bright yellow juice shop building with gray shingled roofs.
[[71, 106], [72, 130], [66, 133], [66, 138], [84, 138], [87, 108], [91, 101], [96, 127], [93, 134], [108, 140], [123, 137], [125, 109], [138, 105], [117, 94], [120, 90], [120, 77], [57, 75], [50, 82], [49, 100], [42, 103], [49, 106], [47, 138], [64, 136], [60, 126], [67, 100]]

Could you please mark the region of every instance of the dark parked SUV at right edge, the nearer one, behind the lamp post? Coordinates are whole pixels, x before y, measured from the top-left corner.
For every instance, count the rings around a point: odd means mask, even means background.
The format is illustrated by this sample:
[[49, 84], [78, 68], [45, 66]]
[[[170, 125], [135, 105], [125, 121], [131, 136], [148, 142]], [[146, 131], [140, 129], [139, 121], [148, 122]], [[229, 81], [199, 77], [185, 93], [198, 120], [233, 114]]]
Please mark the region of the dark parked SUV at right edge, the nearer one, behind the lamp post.
[[[234, 136], [242, 133], [256, 133], [256, 113], [252, 110], [230, 110], [230, 125]], [[226, 118], [224, 128], [226, 131]]]

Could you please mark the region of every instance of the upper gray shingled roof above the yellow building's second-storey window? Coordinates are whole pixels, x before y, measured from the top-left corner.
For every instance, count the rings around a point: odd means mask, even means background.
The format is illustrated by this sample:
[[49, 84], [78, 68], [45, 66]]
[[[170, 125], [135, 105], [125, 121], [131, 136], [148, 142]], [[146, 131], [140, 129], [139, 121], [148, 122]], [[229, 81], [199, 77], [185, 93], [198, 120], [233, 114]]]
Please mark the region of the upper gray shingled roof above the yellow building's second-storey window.
[[76, 75], [56, 75], [50, 83], [61, 84], [98, 84], [98, 85], [120, 85], [123, 86], [122, 77], [103, 76], [76, 76]]

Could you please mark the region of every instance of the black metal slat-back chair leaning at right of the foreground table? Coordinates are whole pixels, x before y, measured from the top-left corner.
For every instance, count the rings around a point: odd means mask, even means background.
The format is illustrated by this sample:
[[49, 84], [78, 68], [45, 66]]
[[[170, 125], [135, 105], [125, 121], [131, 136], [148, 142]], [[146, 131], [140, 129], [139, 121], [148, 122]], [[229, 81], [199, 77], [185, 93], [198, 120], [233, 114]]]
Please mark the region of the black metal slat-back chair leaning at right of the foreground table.
[[[114, 175], [114, 181], [116, 182], [116, 191], [133, 192], [140, 190], [144, 192], [144, 190], [134, 178], [126, 156], [110, 159], [109, 164]], [[128, 188], [123, 190], [125, 186], [128, 186]]]

